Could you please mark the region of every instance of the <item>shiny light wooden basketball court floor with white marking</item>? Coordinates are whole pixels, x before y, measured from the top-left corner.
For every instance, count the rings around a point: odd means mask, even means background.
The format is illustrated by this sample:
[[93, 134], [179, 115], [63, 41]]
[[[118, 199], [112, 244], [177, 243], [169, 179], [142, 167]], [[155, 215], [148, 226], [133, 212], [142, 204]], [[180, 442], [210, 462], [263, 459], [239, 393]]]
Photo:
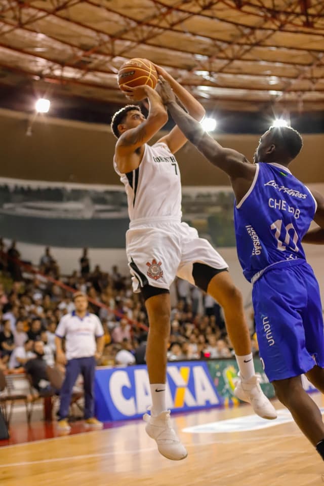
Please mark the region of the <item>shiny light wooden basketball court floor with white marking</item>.
[[[319, 406], [320, 394], [313, 395]], [[289, 413], [263, 421], [250, 406], [173, 416], [187, 459], [160, 456], [142, 421], [0, 448], [2, 486], [312, 486], [324, 464]], [[242, 417], [244, 417], [242, 419]], [[261, 421], [261, 422], [260, 422]], [[270, 425], [262, 428], [264, 423]], [[197, 428], [198, 427], [198, 428]], [[215, 428], [216, 427], [216, 428]], [[217, 431], [221, 427], [221, 431]], [[189, 430], [188, 430], [189, 428]], [[187, 429], [187, 431], [186, 431]]]

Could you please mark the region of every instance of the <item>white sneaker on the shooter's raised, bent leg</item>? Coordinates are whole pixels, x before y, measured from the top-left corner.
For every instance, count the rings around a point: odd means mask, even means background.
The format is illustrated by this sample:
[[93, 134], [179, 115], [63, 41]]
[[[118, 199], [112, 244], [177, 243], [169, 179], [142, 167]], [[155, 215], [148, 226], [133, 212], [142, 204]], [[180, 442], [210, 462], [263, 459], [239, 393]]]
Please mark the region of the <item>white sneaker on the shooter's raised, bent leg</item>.
[[265, 396], [260, 386], [260, 376], [254, 375], [249, 380], [242, 380], [238, 374], [234, 395], [242, 401], [251, 403], [254, 412], [263, 419], [273, 420], [277, 413], [272, 403]]

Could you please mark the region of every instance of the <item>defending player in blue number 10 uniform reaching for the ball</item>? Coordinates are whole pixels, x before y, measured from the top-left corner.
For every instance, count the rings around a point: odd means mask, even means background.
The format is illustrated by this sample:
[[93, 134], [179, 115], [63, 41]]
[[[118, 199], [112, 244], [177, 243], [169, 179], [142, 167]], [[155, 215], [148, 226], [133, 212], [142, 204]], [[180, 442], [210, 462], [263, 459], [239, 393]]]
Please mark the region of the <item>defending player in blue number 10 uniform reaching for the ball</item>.
[[[165, 79], [158, 91], [182, 133], [230, 177], [235, 194], [237, 254], [253, 284], [260, 358], [278, 399], [324, 459], [324, 424], [301, 375], [324, 393], [324, 325], [317, 280], [302, 240], [324, 244], [324, 197], [311, 193], [288, 166], [300, 152], [300, 134], [271, 127], [254, 164], [223, 148], [176, 102]], [[309, 230], [314, 220], [318, 227]]]

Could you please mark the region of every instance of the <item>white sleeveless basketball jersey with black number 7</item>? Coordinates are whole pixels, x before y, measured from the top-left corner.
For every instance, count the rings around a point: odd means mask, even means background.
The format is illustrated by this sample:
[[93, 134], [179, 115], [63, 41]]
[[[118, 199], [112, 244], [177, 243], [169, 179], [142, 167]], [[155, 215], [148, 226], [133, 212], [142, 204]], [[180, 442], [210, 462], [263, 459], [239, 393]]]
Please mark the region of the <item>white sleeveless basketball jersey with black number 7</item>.
[[165, 143], [145, 144], [142, 161], [127, 174], [114, 169], [125, 185], [131, 221], [170, 217], [181, 220], [181, 180], [177, 161]]

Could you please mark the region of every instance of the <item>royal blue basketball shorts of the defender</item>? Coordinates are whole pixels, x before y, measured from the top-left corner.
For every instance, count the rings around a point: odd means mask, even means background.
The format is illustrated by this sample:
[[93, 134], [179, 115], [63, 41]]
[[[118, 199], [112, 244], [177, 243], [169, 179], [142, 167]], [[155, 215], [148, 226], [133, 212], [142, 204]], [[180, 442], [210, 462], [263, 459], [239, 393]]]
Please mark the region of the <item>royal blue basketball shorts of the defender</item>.
[[266, 271], [252, 301], [262, 366], [269, 381], [324, 368], [324, 324], [319, 287], [304, 262]]

